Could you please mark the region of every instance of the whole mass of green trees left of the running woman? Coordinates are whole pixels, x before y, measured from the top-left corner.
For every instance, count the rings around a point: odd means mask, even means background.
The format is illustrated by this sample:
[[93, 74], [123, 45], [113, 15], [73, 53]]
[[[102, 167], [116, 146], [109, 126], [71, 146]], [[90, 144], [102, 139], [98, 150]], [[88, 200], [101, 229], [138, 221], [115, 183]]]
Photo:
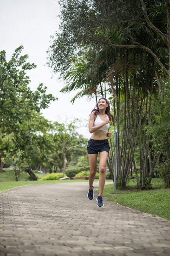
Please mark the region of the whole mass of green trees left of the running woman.
[[22, 49], [18, 47], [9, 61], [6, 52], [0, 52], [0, 172], [4, 163], [11, 165], [16, 181], [21, 171], [31, 174], [31, 168], [40, 166], [52, 171], [54, 165], [64, 174], [74, 148], [85, 144], [74, 124], [52, 124], [41, 115], [57, 98], [46, 94], [42, 83], [35, 92], [29, 88], [26, 71], [36, 65], [27, 62]]

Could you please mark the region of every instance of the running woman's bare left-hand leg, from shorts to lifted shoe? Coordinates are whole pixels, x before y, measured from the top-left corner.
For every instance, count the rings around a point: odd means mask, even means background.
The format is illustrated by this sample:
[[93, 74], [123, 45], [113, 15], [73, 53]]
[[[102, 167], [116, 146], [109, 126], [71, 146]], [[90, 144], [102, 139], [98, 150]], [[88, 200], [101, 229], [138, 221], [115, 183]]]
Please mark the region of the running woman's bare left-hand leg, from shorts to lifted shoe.
[[89, 157], [89, 165], [90, 165], [90, 173], [89, 173], [89, 189], [93, 190], [93, 182], [94, 176], [97, 171], [97, 155], [96, 154], [88, 154]]

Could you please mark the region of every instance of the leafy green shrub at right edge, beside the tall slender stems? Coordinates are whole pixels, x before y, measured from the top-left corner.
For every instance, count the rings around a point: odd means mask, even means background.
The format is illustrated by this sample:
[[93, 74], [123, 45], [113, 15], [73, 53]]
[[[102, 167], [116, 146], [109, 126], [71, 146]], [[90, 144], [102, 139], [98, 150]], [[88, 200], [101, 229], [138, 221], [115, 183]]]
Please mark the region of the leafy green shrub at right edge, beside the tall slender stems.
[[157, 156], [157, 171], [168, 188], [170, 183], [170, 82], [162, 81], [161, 92], [152, 96], [153, 121], [146, 126], [151, 136], [150, 152]]

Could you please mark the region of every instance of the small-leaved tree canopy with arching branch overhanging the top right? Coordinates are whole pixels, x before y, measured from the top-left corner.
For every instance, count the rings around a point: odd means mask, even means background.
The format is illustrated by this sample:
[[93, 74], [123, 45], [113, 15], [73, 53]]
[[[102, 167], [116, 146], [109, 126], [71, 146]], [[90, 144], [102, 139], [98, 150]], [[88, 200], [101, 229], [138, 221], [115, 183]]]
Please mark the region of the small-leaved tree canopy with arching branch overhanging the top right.
[[[153, 38], [159, 40], [161, 48], [164, 47], [165, 51], [168, 49], [167, 45], [170, 45], [168, 1], [166, 4], [164, 1], [149, 1], [147, 9], [143, 0], [62, 0], [59, 3], [61, 32], [52, 37], [48, 51], [48, 64], [55, 72], [64, 74], [82, 47], [100, 47], [104, 44], [117, 49], [142, 49], [169, 74], [169, 59], [166, 63], [164, 60], [161, 62], [161, 49], [155, 51], [152, 47], [155, 44]], [[150, 20], [147, 17], [150, 17]], [[123, 44], [109, 40], [107, 34], [113, 27], [121, 31], [121, 36], [126, 39]], [[143, 37], [138, 36], [140, 34], [143, 34]], [[152, 44], [148, 45], [151, 40]]]

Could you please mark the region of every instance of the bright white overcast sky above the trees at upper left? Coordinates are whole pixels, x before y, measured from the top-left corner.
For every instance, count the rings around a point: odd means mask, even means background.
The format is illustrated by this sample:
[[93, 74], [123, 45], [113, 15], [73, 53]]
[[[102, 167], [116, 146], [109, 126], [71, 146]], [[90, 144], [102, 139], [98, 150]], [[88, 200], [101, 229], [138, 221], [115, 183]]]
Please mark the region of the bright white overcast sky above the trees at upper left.
[[44, 117], [58, 122], [82, 118], [82, 127], [78, 132], [89, 138], [88, 121], [85, 119], [89, 118], [95, 100], [82, 98], [73, 105], [69, 103], [76, 92], [60, 93], [64, 82], [58, 81], [57, 75], [46, 65], [50, 35], [59, 28], [59, 8], [57, 0], [0, 0], [0, 51], [5, 50], [9, 60], [15, 49], [23, 45], [22, 54], [28, 54], [28, 61], [37, 65], [27, 72], [31, 89], [35, 90], [39, 83], [43, 83], [48, 87], [47, 93], [59, 99], [42, 111]]

